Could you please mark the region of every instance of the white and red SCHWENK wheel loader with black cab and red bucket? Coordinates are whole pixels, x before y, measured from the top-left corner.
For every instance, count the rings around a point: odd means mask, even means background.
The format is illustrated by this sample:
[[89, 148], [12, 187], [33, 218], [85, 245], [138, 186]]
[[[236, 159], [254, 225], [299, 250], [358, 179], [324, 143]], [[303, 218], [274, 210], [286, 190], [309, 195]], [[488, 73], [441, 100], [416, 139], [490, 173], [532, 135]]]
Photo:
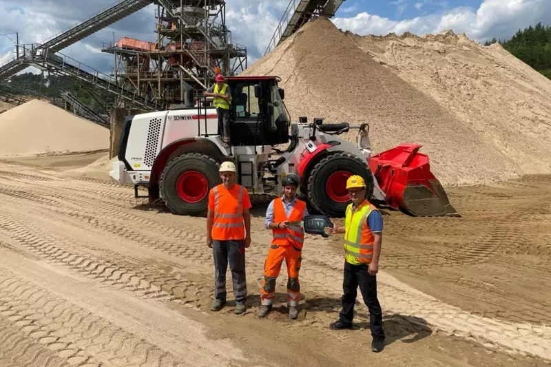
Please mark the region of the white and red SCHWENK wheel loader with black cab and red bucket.
[[[299, 195], [313, 211], [344, 216], [350, 199], [346, 180], [360, 175], [368, 200], [413, 216], [457, 216], [430, 172], [421, 145], [403, 144], [372, 155], [368, 124], [325, 123], [300, 117], [291, 123], [277, 76], [236, 76], [231, 89], [231, 143], [224, 147], [216, 109], [207, 98], [167, 111], [127, 116], [110, 176], [114, 182], [147, 187], [176, 214], [205, 216], [209, 190], [222, 181], [220, 163], [231, 160], [238, 183], [249, 193], [282, 193], [287, 174], [300, 178]], [[355, 143], [340, 134], [357, 129]]]

